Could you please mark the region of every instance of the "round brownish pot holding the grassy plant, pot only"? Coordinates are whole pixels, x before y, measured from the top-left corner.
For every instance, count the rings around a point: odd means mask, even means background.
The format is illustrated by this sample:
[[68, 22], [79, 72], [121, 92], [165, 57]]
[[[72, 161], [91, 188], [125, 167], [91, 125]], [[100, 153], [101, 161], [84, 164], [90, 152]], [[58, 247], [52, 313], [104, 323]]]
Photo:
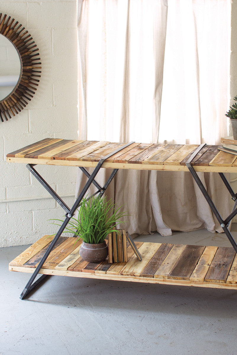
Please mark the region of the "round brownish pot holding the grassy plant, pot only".
[[105, 241], [100, 244], [88, 244], [82, 242], [80, 255], [85, 261], [94, 263], [104, 261], [108, 256], [108, 246]]

